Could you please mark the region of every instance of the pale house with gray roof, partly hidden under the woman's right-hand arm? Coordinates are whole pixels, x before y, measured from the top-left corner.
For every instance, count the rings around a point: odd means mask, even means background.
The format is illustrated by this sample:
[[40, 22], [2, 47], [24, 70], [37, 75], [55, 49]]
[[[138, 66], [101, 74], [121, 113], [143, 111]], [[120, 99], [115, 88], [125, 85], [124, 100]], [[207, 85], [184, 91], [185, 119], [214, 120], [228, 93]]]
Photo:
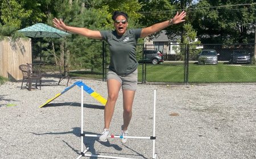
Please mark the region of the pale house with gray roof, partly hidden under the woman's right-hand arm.
[[145, 37], [144, 48], [156, 49], [161, 51], [163, 54], [175, 55], [179, 51], [180, 36], [175, 36], [174, 39], [169, 39], [166, 35], [166, 30], [162, 30], [159, 34]]

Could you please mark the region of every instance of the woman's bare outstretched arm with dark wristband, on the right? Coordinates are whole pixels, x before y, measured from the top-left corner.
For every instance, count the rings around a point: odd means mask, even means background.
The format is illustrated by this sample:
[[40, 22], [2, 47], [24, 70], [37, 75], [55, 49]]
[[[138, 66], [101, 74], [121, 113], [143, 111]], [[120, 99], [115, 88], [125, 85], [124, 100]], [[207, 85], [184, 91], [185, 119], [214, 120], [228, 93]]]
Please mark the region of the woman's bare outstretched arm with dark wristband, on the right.
[[163, 30], [163, 28], [166, 28], [166, 27], [170, 26], [171, 24], [177, 24], [180, 22], [184, 22], [185, 16], [186, 16], [185, 11], [182, 11], [180, 14], [179, 14], [179, 12], [177, 12], [177, 14], [174, 16], [174, 18], [172, 18], [170, 20], [166, 20], [161, 23], [156, 23], [150, 27], [142, 28], [141, 37], [143, 38], [143, 37], [149, 36], [151, 34], [154, 34], [155, 32]]

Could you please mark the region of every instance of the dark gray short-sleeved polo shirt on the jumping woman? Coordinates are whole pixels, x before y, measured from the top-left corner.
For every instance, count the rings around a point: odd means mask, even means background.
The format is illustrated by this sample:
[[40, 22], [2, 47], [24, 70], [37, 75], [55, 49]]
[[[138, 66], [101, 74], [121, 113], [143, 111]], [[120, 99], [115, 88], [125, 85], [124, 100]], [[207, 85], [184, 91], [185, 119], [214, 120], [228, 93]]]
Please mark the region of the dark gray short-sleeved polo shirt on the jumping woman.
[[109, 69], [117, 74], [132, 73], [139, 65], [136, 60], [136, 44], [142, 29], [127, 30], [122, 36], [116, 31], [100, 31], [102, 39], [109, 44]]

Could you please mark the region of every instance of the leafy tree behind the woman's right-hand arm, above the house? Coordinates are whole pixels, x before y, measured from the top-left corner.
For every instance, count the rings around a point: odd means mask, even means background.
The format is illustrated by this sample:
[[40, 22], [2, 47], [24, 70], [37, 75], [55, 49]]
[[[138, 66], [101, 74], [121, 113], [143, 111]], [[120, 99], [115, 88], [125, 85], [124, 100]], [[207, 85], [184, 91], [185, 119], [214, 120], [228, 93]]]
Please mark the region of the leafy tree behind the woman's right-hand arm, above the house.
[[[163, 22], [164, 20], [168, 20], [172, 18], [177, 11], [186, 10], [192, 5], [192, 0], [183, 0], [183, 1], [168, 1], [168, 0], [152, 0], [152, 1], [139, 1], [143, 3], [142, 13], [143, 18], [142, 25], [144, 27], [150, 26], [155, 23]], [[187, 10], [187, 14], [189, 15], [189, 10]], [[195, 40], [196, 31], [193, 30], [192, 25], [189, 25], [190, 20], [186, 18], [185, 23], [177, 24], [174, 26], [167, 27], [167, 35], [170, 39], [180, 36], [180, 42], [182, 44], [192, 43], [192, 39]], [[185, 26], [185, 24], [188, 24]], [[185, 28], [186, 27], [186, 30]], [[190, 27], [190, 28], [188, 28]], [[187, 32], [185, 32], [187, 31]], [[188, 31], [192, 31], [189, 33]], [[193, 37], [187, 36], [193, 35]], [[189, 39], [189, 40], [188, 40]]]

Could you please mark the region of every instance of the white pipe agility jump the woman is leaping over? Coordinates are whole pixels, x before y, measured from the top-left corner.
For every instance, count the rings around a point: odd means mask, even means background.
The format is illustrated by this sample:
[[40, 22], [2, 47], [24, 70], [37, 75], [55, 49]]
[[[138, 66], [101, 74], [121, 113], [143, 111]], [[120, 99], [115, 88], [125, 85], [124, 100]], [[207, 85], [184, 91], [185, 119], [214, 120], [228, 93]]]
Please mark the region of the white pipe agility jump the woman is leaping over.
[[[89, 147], [85, 146], [84, 149], [84, 137], [100, 137], [100, 135], [90, 135], [90, 134], [85, 134], [84, 133], [84, 91], [82, 91], [84, 88], [81, 86], [81, 154], [79, 157], [76, 159], [81, 158], [82, 156], [85, 157], [97, 157], [97, 158], [117, 158], [117, 159], [135, 159], [135, 158], [123, 158], [123, 157], [114, 157], [114, 156], [102, 156], [98, 154], [85, 154], [88, 150]], [[153, 106], [153, 135], [150, 137], [139, 137], [139, 136], [118, 136], [118, 135], [110, 135], [109, 138], [127, 138], [127, 139], [149, 139], [152, 140], [152, 158], [156, 158], [156, 153], [155, 153], [155, 102], [156, 102], [156, 90], [154, 90], [154, 106]]]

